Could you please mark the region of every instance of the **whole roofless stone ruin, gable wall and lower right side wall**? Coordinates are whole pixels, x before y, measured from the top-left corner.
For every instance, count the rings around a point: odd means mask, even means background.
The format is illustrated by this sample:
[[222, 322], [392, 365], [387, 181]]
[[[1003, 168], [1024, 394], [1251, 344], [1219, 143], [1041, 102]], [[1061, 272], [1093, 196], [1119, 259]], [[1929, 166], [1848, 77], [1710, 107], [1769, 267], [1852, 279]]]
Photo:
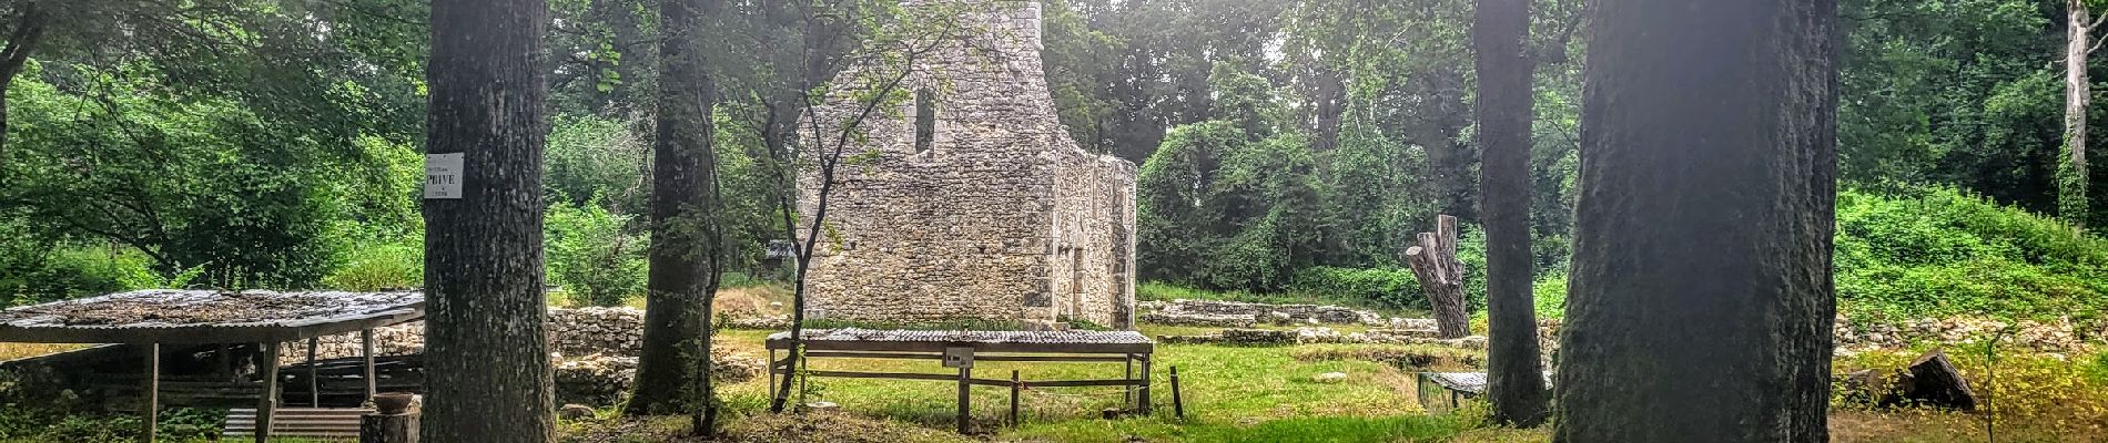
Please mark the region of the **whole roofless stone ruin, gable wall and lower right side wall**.
[[[843, 149], [856, 160], [837, 168], [828, 191], [807, 317], [1132, 328], [1136, 168], [1084, 151], [1056, 120], [1039, 61], [1039, 2], [902, 6], [946, 10], [959, 31], [909, 44], [932, 48], [900, 57], [911, 69], [898, 90], [913, 99], [887, 101], [894, 109], [871, 113], [858, 126], [866, 139]], [[839, 128], [862, 109], [845, 99], [850, 88], [892, 73], [898, 63], [852, 65], [807, 122]], [[809, 128], [801, 143], [816, 141]], [[818, 168], [803, 168], [805, 220], [818, 187]]]

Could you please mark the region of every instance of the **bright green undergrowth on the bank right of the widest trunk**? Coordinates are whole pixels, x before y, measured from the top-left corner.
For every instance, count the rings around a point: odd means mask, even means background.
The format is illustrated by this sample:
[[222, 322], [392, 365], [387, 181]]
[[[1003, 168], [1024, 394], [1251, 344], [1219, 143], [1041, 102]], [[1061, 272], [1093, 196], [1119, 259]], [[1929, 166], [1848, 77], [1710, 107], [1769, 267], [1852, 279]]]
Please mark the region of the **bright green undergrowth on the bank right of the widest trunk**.
[[2108, 239], [1954, 189], [1838, 195], [1838, 302], [1889, 319], [2102, 317]]

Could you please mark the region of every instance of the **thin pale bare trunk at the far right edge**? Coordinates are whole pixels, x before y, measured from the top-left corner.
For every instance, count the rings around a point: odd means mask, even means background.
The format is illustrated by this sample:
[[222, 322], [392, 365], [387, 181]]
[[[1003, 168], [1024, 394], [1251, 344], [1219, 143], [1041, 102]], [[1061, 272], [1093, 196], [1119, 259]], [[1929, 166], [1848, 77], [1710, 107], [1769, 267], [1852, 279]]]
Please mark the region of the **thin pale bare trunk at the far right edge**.
[[2093, 82], [2087, 80], [2087, 52], [2093, 42], [2093, 19], [2087, 17], [2085, 0], [2066, 0], [2064, 42], [2064, 162], [2057, 164], [2057, 214], [2066, 223], [2087, 225], [2087, 103], [2093, 99]]

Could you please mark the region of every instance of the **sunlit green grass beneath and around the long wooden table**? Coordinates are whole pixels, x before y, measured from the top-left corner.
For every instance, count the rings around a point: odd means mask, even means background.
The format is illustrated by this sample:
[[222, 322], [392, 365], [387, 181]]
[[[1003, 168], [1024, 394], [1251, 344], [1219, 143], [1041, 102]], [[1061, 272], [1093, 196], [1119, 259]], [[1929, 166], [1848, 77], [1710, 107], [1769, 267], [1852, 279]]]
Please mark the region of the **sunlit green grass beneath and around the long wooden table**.
[[[1166, 328], [1149, 325], [1159, 334]], [[1212, 332], [1212, 330], [1208, 330]], [[719, 340], [750, 355], [761, 355], [767, 332], [723, 332]], [[721, 344], [721, 346], [723, 346]], [[1341, 344], [1345, 346], [1345, 344]], [[1455, 433], [1461, 424], [1425, 416], [1414, 399], [1412, 376], [1389, 363], [1362, 359], [1296, 359], [1296, 349], [1318, 346], [1210, 346], [1164, 344], [1155, 353], [1157, 412], [1145, 418], [1100, 420], [1098, 412], [1121, 407], [1119, 388], [1043, 388], [1027, 391], [1022, 409], [1027, 424], [995, 435], [999, 441], [1400, 441], [1425, 435]], [[915, 372], [955, 374], [936, 361], [894, 359], [818, 359], [812, 370]], [[1170, 407], [1170, 367], [1178, 367], [1187, 420], [1176, 420]], [[1119, 378], [1119, 363], [1008, 363], [982, 361], [978, 378], [1008, 378], [1018, 370], [1024, 380]], [[1347, 382], [1320, 384], [1318, 374], [1345, 372]], [[729, 407], [740, 414], [765, 409], [763, 380], [723, 386]], [[925, 428], [951, 428], [955, 416], [955, 384], [919, 380], [814, 378], [816, 393], [807, 401], [835, 401], [843, 412], [898, 420]], [[972, 416], [976, 426], [995, 428], [1008, 416], [1010, 391], [976, 386]], [[1315, 437], [1296, 437], [1313, 435]]]

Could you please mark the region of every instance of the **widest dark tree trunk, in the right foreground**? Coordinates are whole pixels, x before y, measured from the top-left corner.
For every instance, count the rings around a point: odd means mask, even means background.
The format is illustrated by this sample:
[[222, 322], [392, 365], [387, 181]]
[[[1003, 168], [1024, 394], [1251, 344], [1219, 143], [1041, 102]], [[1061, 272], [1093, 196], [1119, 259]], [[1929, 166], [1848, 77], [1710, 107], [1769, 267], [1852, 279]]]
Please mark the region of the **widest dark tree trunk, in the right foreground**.
[[1556, 441], [1828, 441], [1834, 19], [1596, 2]]

